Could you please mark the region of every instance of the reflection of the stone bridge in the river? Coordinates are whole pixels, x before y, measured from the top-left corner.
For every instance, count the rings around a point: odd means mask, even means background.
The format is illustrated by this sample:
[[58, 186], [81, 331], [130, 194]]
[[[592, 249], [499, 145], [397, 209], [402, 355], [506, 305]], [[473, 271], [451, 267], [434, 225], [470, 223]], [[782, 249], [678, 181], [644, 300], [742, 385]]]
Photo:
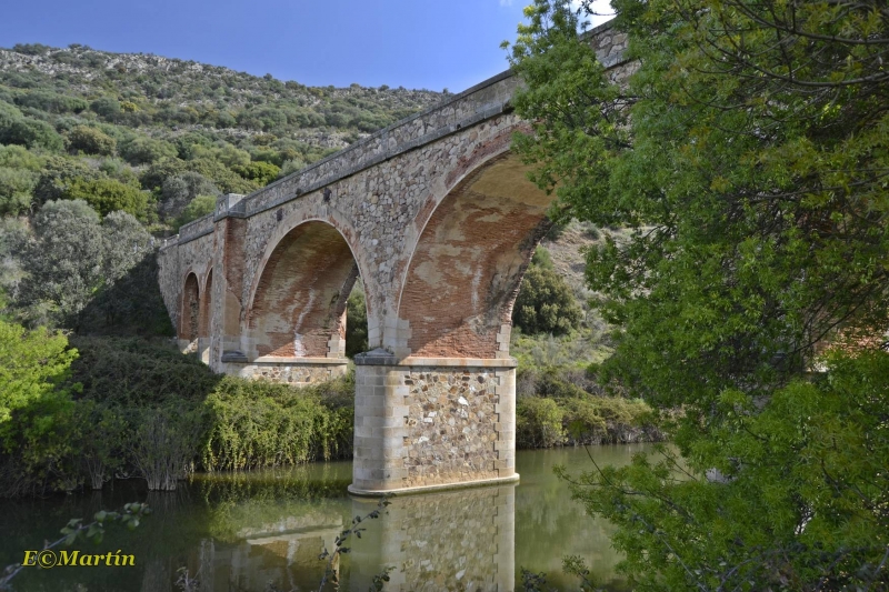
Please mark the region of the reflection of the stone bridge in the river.
[[[351, 516], [376, 506], [376, 500], [353, 498]], [[208, 539], [196, 549], [189, 568], [198, 573], [199, 590], [318, 589], [324, 573], [318, 555], [324, 546], [333, 549], [351, 519], [336, 506], [266, 518], [262, 525], [237, 530], [229, 544]], [[394, 568], [387, 591], [515, 590], [515, 484], [394, 498], [362, 526], [361, 538], [346, 543], [341, 590], [363, 592], [386, 568]]]

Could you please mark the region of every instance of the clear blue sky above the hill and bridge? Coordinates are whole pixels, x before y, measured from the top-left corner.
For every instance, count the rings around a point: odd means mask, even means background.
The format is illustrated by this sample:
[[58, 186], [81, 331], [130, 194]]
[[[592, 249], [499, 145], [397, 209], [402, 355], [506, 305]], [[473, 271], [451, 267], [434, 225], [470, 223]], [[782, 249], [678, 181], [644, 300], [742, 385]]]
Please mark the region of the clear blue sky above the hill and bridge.
[[[598, 12], [610, 12], [598, 0]], [[509, 66], [530, 0], [29, 0], [0, 13], [0, 47], [82, 43], [224, 66], [302, 84], [466, 90]], [[593, 22], [608, 20], [599, 18]]]

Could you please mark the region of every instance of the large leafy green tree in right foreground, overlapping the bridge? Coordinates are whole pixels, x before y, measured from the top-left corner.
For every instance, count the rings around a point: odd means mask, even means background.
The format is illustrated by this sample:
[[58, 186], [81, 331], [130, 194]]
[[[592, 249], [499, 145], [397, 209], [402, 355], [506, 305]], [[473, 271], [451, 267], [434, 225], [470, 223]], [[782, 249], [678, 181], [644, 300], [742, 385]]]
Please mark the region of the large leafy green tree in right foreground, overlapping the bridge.
[[575, 494], [618, 524], [643, 590], [885, 586], [889, 12], [615, 8], [623, 86], [568, 2], [528, 9], [511, 62], [533, 133], [513, 146], [560, 215], [633, 229], [587, 257], [622, 327], [603, 377], [682, 407], [685, 459], [593, 471]]

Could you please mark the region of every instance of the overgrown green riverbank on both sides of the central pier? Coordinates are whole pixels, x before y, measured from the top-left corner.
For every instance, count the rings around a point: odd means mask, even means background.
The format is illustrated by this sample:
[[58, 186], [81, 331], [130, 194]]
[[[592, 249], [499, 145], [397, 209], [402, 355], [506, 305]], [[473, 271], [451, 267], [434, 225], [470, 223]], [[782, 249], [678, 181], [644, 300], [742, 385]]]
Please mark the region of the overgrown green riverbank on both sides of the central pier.
[[[0, 452], [0, 498], [101, 490], [117, 478], [172, 491], [198, 471], [351, 458], [352, 373], [297, 389], [213, 374], [160, 340], [70, 344], [78, 359], [61, 385], [70, 398], [16, 412], [20, 429]], [[578, 372], [520, 370], [519, 448], [662, 439], [643, 402], [596, 392]]]

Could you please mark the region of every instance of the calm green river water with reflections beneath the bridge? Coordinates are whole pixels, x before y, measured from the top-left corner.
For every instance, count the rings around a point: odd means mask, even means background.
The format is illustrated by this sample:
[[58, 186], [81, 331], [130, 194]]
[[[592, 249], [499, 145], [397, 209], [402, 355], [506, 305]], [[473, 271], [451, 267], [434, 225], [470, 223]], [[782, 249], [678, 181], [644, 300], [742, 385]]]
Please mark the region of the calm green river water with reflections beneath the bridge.
[[[625, 464], [646, 444], [591, 446], [600, 464]], [[340, 589], [366, 591], [374, 574], [396, 568], [386, 590], [509, 591], [521, 589], [521, 568], [546, 572], [559, 590], [576, 582], [561, 573], [562, 558], [580, 555], [595, 582], [621, 590], [615, 574], [619, 556], [610, 548], [610, 528], [585, 515], [552, 474], [565, 464], [575, 473], [591, 470], [583, 449], [520, 451], [518, 485], [479, 488], [397, 498], [378, 520], [366, 521], [340, 565]], [[287, 470], [197, 475], [173, 493], [150, 493], [139, 481], [118, 481], [94, 494], [54, 496], [0, 504], [0, 568], [20, 562], [24, 550], [54, 540], [71, 518], [99, 509], [147, 501], [154, 510], [132, 533], [116, 529], [81, 552], [120, 550], [136, 566], [26, 569], [14, 590], [142, 591], [179, 590], [180, 569], [197, 576], [201, 592], [318, 590], [324, 562], [318, 559], [376, 502], [351, 499], [346, 488], [351, 463], [318, 463]], [[328, 586], [332, 590], [332, 586]]]

